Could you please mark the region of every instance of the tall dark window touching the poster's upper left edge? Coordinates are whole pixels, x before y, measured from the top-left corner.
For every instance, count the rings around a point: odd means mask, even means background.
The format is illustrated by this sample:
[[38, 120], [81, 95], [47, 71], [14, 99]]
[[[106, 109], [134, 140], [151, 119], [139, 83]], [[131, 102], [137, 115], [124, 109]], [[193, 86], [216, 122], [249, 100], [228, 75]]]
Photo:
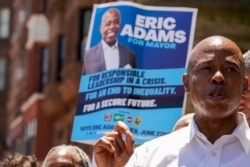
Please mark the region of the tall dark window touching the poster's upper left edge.
[[89, 24], [91, 19], [92, 10], [84, 9], [80, 12], [80, 32], [79, 32], [79, 49], [77, 60], [82, 60], [85, 52], [86, 42], [89, 32]]

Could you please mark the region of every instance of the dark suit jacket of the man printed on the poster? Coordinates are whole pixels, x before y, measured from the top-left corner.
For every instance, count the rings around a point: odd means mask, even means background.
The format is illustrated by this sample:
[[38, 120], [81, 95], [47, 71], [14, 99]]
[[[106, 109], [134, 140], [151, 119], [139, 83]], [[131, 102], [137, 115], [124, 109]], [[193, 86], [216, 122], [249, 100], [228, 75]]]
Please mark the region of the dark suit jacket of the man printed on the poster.
[[[119, 67], [123, 68], [127, 65], [131, 66], [131, 68], [136, 68], [136, 57], [135, 54], [118, 43], [119, 49]], [[84, 61], [83, 61], [84, 74], [92, 74], [96, 72], [101, 72], [106, 70], [106, 64], [104, 60], [104, 53], [102, 48], [102, 43], [99, 42], [98, 45], [90, 48], [85, 52]]]

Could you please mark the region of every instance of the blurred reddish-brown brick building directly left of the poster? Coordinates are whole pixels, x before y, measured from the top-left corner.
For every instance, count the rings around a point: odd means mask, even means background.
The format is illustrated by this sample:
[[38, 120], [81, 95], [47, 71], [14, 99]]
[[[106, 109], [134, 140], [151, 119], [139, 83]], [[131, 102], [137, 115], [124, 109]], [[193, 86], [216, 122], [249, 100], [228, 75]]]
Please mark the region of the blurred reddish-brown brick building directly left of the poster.
[[[104, 2], [104, 1], [103, 1]], [[82, 0], [13, 0], [8, 92], [8, 139], [12, 151], [43, 159], [71, 143], [82, 46], [92, 4]], [[92, 147], [78, 144], [91, 154]]]

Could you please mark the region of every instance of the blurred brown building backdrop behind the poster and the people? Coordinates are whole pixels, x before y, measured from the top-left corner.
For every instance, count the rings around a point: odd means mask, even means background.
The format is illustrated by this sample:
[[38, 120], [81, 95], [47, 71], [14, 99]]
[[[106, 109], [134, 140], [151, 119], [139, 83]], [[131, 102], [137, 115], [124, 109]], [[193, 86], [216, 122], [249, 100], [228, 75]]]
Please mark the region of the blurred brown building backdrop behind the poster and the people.
[[[10, 152], [42, 160], [70, 141], [82, 58], [94, 3], [112, 0], [0, 0], [0, 159]], [[134, 0], [198, 8], [194, 44], [224, 35], [250, 49], [250, 0]], [[187, 98], [185, 113], [193, 112]]]

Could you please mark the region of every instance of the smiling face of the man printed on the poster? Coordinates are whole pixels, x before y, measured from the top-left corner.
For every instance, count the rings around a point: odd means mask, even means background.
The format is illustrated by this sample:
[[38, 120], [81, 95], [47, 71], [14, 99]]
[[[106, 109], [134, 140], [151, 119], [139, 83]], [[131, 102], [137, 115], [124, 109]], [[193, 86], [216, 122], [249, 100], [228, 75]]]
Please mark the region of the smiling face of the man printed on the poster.
[[103, 16], [102, 25], [100, 28], [103, 40], [113, 45], [116, 40], [117, 33], [120, 29], [120, 15], [116, 10], [110, 10]]

